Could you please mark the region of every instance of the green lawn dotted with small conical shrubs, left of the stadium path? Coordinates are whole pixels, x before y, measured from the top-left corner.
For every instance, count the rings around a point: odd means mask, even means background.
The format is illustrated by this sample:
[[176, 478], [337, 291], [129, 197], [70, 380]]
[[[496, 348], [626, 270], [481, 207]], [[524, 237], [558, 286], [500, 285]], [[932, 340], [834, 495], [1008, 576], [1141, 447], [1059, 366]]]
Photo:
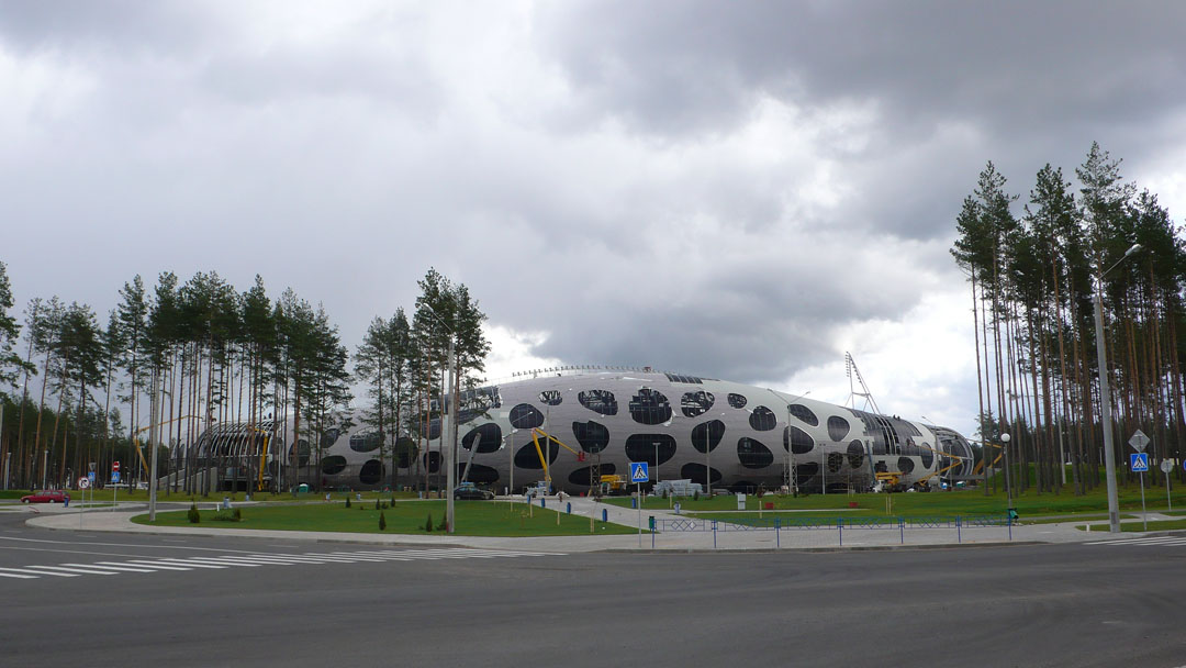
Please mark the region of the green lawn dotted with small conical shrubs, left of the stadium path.
[[[287, 532], [346, 532], [358, 534], [438, 534], [435, 526], [445, 517], [445, 501], [402, 501], [382, 510], [387, 519], [387, 530], [380, 532], [380, 510], [375, 510], [374, 498], [370, 503], [353, 502], [346, 508], [344, 502], [300, 503], [291, 505], [249, 505], [242, 508], [242, 522], [221, 522], [213, 520], [213, 510], [209, 503], [199, 503], [202, 522], [199, 527], [221, 529], [278, 529]], [[568, 515], [551, 509], [531, 507], [524, 503], [491, 501], [458, 501], [455, 507], [457, 535], [463, 536], [568, 536], [588, 535], [589, 519], [582, 515]], [[432, 515], [433, 534], [425, 532], [425, 523]], [[559, 519], [559, 523], [557, 523]], [[148, 515], [139, 515], [132, 520], [138, 524], [161, 527], [193, 527], [184, 510], [158, 513], [155, 522], [148, 522]], [[637, 532], [630, 527], [597, 521], [594, 530], [600, 535], [630, 534]], [[444, 534], [444, 532], [440, 532]]]

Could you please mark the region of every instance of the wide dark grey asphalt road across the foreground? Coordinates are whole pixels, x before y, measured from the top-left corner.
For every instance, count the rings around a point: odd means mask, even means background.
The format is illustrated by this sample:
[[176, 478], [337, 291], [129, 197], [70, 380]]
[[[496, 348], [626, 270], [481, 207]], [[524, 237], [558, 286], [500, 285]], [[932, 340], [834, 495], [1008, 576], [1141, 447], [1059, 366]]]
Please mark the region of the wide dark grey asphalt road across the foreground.
[[495, 555], [24, 519], [0, 666], [1186, 664], [1186, 545]]

